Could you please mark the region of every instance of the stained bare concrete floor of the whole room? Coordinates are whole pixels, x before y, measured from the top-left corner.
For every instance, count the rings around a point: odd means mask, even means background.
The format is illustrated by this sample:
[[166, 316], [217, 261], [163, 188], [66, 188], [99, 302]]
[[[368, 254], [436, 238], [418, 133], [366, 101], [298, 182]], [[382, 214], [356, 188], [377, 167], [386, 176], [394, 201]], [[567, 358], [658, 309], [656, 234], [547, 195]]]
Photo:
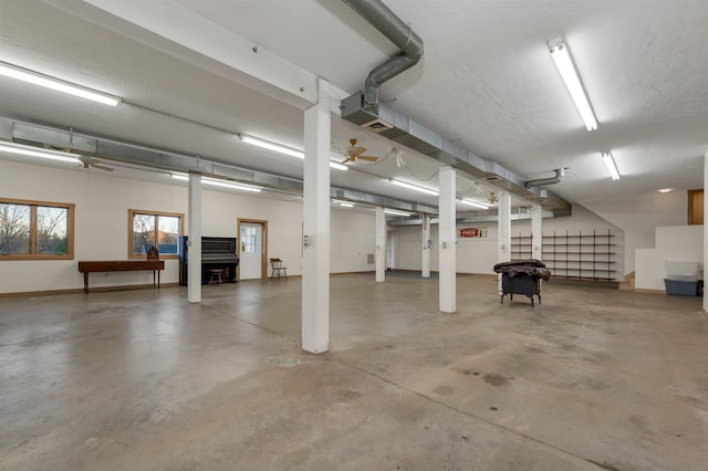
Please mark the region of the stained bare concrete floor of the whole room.
[[332, 278], [0, 300], [2, 470], [705, 470], [699, 297]]

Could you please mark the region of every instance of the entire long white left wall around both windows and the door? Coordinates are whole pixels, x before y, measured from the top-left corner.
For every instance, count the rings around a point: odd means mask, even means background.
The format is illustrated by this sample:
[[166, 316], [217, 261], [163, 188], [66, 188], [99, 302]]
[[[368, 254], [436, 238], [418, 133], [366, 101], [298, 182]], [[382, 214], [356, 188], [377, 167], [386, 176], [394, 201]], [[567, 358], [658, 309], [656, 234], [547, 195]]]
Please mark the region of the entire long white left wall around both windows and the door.
[[[67, 170], [0, 160], [0, 197], [76, 205], [74, 260], [0, 260], [0, 293], [83, 287], [80, 260], [127, 260], [127, 210], [181, 212], [187, 216], [187, 188], [117, 178], [101, 170]], [[285, 200], [282, 200], [285, 199]], [[237, 237], [238, 218], [269, 222], [268, 251], [280, 257], [288, 274], [302, 273], [302, 202], [299, 197], [269, 199], [205, 190], [202, 233]], [[373, 211], [332, 211], [332, 271], [373, 270], [366, 254], [374, 250]], [[185, 230], [187, 230], [185, 220]], [[90, 286], [152, 283], [152, 273], [93, 273]], [[163, 283], [177, 283], [177, 260], [166, 260]]]

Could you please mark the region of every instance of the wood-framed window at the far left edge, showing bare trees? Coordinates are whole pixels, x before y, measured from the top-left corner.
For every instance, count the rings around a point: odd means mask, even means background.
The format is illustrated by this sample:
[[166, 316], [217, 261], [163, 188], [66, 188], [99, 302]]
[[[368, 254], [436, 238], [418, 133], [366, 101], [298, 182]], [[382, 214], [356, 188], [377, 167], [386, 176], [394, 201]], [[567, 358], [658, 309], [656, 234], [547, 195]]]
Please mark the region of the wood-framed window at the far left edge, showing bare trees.
[[0, 260], [74, 258], [74, 205], [0, 199]]

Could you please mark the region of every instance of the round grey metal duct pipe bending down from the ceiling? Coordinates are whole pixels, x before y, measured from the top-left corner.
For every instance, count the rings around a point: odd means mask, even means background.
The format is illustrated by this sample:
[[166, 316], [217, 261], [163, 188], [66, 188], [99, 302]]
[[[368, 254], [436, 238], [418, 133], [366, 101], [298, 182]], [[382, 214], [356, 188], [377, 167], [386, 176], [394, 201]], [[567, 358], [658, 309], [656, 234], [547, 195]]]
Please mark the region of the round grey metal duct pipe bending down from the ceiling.
[[394, 55], [369, 72], [364, 87], [364, 106], [378, 113], [381, 84], [413, 67], [423, 57], [423, 40], [381, 0], [342, 0], [360, 17], [400, 48]]

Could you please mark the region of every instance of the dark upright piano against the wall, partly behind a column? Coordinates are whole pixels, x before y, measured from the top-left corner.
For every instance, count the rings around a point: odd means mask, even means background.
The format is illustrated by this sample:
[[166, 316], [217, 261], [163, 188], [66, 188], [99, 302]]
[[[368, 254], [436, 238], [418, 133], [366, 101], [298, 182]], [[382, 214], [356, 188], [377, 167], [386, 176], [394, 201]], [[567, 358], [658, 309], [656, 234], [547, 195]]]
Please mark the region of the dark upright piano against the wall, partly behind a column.
[[[189, 238], [179, 237], [179, 284], [187, 285], [187, 269], [189, 266]], [[236, 254], [236, 238], [202, 237], [201, 238], [201, 284], [208, 284], [211, 274], [209, 270], [221, 269], [222, 283], [236, 283], [236, 268], [239, 257]]]

